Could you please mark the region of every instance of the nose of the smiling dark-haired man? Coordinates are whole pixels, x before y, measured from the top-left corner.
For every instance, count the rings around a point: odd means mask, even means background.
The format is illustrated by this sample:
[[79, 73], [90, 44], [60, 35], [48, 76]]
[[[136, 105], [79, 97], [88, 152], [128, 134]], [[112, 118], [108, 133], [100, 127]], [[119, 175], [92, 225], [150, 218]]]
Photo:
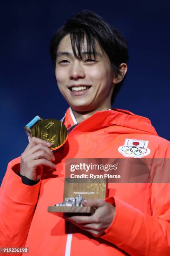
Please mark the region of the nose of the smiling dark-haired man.
[[70, 79], [80, 79], [85, 77], [85, 70], [80, 61], [75, 61], [70, 67]]

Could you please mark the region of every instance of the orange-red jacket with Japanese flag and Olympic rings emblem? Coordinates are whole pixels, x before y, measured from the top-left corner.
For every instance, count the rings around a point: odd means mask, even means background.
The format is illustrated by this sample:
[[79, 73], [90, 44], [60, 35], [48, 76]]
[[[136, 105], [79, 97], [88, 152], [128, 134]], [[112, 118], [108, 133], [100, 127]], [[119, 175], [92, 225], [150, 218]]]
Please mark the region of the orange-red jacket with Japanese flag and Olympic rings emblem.
[[[70, 108], [64, 123], [74, 125]], [[11, 161], [0, 189], [0, 247], [29, 247], [29, 256], [170, 255], [170, 184], [108, 184], [116, 212], [101, 238], [83, 230], [67, 235], [65, 220], [47, 212], [63, 200], [65, 158], [126, 158], [127, 139], [147, 143], [145, 158], [170, 158], [169, 141], [148, 118], [113, 109], [77, 125], [55, 152], [56, 170], [45, 171], [36, 185], [23, 184], [16, 174], [20, 157]]]

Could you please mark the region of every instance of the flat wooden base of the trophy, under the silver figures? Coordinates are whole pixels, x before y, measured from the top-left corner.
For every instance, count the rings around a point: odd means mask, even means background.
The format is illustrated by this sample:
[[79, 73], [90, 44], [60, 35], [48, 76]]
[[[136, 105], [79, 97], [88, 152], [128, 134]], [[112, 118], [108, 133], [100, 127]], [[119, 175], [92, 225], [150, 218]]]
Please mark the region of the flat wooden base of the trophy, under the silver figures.
[[48, 212], [78, 213], [83, 215], [94, 213], [95, 208], [90, 206], [48, 206]]

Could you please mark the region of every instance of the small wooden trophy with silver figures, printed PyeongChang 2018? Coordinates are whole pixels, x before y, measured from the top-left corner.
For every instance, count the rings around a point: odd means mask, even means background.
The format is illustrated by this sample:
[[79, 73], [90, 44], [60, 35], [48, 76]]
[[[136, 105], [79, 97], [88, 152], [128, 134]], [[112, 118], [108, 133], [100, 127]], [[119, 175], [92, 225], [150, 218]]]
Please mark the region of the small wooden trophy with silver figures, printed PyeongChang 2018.
[[[82, 183], [83, 182], [83, 183]], [[105, 199], [107, 197], [106, 179], [96, 181], [94, 179], [65, 178], [63, 202], [48, 206], [48, 212], [62, 212], [71, 215], [90, 215], [95, 212], [94, 207], [83, 206], [83, 200]]]

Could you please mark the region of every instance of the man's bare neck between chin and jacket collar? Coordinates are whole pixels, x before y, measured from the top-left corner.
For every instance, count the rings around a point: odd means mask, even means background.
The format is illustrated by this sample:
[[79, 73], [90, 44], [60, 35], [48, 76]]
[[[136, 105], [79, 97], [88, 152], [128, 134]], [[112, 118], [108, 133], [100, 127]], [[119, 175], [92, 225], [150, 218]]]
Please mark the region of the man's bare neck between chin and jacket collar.
[[91, 111], [77, 111], [77, 110], [74, 110], [72, 109], [72, 112], [75, 116], [75, 119], [77, 120], [77, 123], [80, 123], [81, 121], [89, 118], [90, 116], [92, 116], [95, 112], [97, 111], [105, 111], [105, 110], [109, 110], [111, 108], [110, 107], [105, 107], [105, 108], [97, 108], [95, 110], [91, 110]]

